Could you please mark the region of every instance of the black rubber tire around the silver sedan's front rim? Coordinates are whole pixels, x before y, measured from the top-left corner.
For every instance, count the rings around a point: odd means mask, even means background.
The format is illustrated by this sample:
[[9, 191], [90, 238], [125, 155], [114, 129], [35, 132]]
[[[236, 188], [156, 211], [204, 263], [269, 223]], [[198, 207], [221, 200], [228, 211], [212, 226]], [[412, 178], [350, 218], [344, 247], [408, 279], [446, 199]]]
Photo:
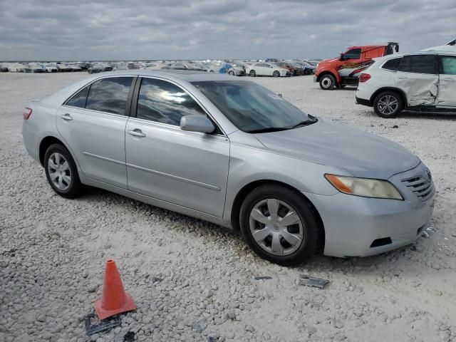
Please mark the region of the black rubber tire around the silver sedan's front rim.
[[[261, 247], [260, 244], [255, 241], [252, 235], [252, 231], [250, 229], [250, 214], [252, 209], [254, 209], [254, 207], [264, 199], [279, 199], [279, 201], [289, 205], [289, 207], [291, 207], [294, 212], [298, 214], [299, 219], [301, 219], [303, 238], [301, 239], [299, 247], [297, 247], [297, 249], [291, 254], [276, 255], [271, 252], [267, 252], [264, 247]], [[261, 258], [274, 262], [275, 264], [301, 264], [312, 257], [321, 245], [321, 238], [323, 234], [320, 232], [318, 222], [311, 207], [309, 207], [309, 204], [306, 203], [306, 200], [299, 192], [281, 185], [261, 185], [250, 192], [242, 203], [239, 214], [239, 223], [244, 239], [254, 252]], [[289, 227], [286, 229], [289, 229]], [[266, 239], [264, 239], [263, 242], [266, 242]], [[283, 246], [283, 237], [281, 238], [280, 243]]]

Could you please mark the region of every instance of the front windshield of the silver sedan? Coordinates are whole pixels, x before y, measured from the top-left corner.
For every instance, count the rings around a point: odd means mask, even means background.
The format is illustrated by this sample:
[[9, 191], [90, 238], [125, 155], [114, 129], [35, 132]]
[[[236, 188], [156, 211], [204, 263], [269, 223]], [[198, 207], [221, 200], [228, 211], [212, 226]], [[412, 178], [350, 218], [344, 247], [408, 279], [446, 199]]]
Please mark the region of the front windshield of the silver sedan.
[[316, 122], [271, 90], [251, 81], [192, 82], [237, 127], [247, 133], [289, 130]]

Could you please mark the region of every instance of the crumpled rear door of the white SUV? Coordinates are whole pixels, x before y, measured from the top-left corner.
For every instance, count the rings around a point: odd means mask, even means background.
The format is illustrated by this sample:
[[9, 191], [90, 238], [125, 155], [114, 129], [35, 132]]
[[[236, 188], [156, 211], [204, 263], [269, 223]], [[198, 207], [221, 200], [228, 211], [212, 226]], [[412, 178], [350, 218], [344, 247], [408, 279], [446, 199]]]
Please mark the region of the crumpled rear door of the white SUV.
[[407, 95], [407, 104], [435, 105], [439, 75], [435, 54], [403, 56], [396, 73], [396, 86]]

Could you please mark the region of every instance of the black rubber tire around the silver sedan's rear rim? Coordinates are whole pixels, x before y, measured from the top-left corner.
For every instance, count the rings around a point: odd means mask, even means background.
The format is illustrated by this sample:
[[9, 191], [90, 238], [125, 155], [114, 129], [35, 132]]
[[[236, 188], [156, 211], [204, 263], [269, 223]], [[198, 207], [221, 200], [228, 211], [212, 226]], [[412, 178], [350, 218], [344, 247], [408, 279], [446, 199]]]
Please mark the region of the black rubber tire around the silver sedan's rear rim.
[[[69, 187], [66, 190], [58, 189], [58, 187], [51, 180], [48, 165], [51, 156], [56, 152], [62, 155], [66, 162], [68, 162], [70, 171], [69, 175], [71, 175], [71, 182], [69, 182]], [[46, 178], [48, 179], [49, 185], [51, 185], [52, 189], [58, 195], [61, 195], [62, 197], [66, 198], [74, 198], [81, 194], [81, 191], [83, 190], [83, 185], [81, 184], [81, 180], [79, 180], [78, 168], [76, 167], [76, 163], [74, 162], [73, 157], [71, 157], [71, 153], [68, 152], [65, 146], [61, 144], [53, 144], [48, 147], [48, 149], [46, 150], [46, 154], [44, 155], [44, 170], [46, 172]]]

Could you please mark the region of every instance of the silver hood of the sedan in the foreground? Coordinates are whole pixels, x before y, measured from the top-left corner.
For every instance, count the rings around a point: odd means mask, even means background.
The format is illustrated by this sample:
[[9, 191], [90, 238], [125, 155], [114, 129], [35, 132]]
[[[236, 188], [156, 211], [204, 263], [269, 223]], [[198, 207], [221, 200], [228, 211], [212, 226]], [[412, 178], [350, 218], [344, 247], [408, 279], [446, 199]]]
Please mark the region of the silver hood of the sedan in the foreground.
[[255, 137], [269, 150], [343, 168], [356, 177], [387, 180], [420, 163], [417, 156], [395, 142], [321, 120], [292, 130], [257, 133]]

